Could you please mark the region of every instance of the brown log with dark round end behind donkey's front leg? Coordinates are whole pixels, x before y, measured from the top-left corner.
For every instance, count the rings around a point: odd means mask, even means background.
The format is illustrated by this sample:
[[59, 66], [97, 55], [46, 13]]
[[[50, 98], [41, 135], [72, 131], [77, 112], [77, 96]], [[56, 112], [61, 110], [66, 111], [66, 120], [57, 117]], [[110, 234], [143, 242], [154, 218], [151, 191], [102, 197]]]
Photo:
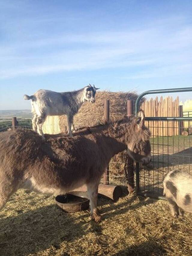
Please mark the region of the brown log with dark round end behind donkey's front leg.
[[[79, 187], [70, 191], [68, 194], [71, 194], [75, 191], [79, 191], [79, 194], [80, 194], [80, 191], [85, 193], [87, 192], [87, 187], [86, 185], [83, 185], [82, 187]], [[113, 201], [117, 201], [119, 197], [122, 196], [122, 188], [120, 186], [99, 184], [98, 195], [100, 195], [101, 197], [110, 198]]]

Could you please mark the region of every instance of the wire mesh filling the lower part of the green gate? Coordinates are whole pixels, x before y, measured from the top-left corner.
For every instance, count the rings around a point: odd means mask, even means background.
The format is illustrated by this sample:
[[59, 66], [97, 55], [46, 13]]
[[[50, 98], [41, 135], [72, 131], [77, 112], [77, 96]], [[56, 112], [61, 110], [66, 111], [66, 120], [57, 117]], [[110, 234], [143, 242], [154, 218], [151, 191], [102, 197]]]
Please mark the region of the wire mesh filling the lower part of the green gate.
[[[151, 121], [150, 130], [158, 129], [160, 121]], [[178, 129], [176, 122], [163, 123], [163, 135], [152, 136], [152, 164], [150, 168], [140, 166], [140, 193], [159, 197], [163, 195], [163, 180], [167, 172], [180, 169], [191, 172], [192, 169], [192, 135], [172, 135], [171, 130]], [[171, 131], [171, 132], [170, 132]], [[164, 136], [164, 134], [166, 134]], [[171, 136], [170, 136], [171, 134]]]

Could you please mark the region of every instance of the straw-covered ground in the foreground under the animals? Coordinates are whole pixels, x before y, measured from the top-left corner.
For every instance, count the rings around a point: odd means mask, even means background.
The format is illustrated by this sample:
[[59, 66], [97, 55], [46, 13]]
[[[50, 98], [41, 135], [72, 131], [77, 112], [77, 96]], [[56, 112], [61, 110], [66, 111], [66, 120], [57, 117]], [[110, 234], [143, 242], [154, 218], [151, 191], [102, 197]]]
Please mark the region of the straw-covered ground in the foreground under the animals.
[[100, 199], [102, 221], [65, 213], [54, 197], [19, 190], [0, 212], [0, 255], [191, 255], [192, 216], [173, 219], [166, 201]]

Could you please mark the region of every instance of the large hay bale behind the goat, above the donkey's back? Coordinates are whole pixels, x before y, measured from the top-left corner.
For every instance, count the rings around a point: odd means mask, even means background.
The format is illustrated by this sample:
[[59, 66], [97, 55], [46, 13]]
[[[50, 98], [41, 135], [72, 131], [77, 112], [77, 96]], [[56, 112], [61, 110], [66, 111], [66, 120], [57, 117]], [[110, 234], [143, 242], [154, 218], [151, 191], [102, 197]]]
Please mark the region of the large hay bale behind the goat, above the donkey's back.
[[[105, 99], [110, 100], [110, 118], [123, 117], [127, 114], [127, 100], [133, 100], [135, 105], [137, 97], [138, 95], [135, 92], [97, 92], [95, 103], [85, 102], [79, 112], [74, 116], [74, 126], [75, 128], [79, 128], [82, 126], [94, 126], [100, 123], [104, 116]], [[141, 102], [143, 101], [141, 100]], [[135, 109], [135, 106], [133, 108]], [[59, 117], [59, 127], [62, 133], [67, 131], [66, 115]]]

